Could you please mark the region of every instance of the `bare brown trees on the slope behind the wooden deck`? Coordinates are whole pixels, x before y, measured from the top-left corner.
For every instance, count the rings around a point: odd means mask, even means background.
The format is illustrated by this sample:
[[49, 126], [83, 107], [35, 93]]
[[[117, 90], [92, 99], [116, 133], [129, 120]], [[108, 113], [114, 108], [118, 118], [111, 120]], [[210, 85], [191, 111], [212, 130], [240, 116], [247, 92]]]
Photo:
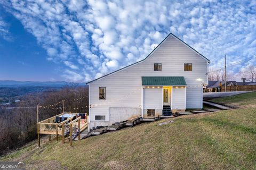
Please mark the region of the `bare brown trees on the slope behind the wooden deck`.
[[14, 109], [0, 108], [0, 154], [36, 139], [37, 105], [52, 105], [39, 108], [39, 121], [62, 113], [62, 103], [53, 105], [62, 100], [65, 100], [66, 112], [88, 113], [88, 94], [87, 86], [73, 84], [60, 90], [28, 94]]

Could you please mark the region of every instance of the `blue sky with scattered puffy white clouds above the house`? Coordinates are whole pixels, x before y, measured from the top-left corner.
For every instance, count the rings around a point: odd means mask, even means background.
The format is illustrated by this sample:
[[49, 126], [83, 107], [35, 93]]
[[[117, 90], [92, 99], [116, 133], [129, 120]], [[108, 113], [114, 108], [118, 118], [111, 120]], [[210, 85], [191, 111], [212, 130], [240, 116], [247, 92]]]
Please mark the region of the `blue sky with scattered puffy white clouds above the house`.
[[86, 82], [170, 32], [229, 74], [256, 64], [256, 1], [1, 1], [0, 80]]

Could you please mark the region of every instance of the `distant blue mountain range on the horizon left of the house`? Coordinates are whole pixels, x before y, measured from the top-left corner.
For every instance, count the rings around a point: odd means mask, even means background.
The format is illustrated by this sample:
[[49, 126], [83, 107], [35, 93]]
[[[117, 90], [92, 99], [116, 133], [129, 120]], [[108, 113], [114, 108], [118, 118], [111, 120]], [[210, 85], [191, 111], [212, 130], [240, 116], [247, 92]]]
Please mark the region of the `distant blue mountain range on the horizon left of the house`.
[[[66, 81], [14, 81], [14, 80], [0, 80], [0, 87], [63, 87], [73, 84]], [[78, 86], [85, 86], [85, 83], [77, 83]]]

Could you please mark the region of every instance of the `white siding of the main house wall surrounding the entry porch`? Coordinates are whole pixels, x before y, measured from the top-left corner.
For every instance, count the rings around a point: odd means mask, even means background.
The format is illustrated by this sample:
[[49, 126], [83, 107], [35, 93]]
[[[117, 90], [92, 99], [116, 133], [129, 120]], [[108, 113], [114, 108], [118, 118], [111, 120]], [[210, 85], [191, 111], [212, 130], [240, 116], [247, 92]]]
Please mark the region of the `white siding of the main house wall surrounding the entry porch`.
[[[154, 63], [162, 63], [162, 71], [154, 71]], [[184, 71], [184, 63], [192, 63], [193, 71]], [[184, 77], [186, 107], [201, 108], [199, 89], [202, 83], [207, 83], [207, 72], [207, 61], [170, 35], [146, 60], [90, 83], [91, 121], [95, 115], [106, 115], [106, 123], [109, 123], [110, 107], [141, 107], [141, 77], [145, 76]], [[99, 100], [99, 87], [106, 87], [106, 100]]]

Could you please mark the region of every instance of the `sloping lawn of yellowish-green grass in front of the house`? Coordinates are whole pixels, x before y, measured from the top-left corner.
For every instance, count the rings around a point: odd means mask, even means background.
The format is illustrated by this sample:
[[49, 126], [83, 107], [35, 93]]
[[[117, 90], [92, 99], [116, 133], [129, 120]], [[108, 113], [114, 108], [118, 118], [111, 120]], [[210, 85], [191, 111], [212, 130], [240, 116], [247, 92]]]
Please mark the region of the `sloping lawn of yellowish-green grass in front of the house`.
[[143, 123], [72, 148], [31, 142], [0, 160], [25, 161], [28, 169], [256, 169], [256, 97], [237, 97], [243, 108]]

